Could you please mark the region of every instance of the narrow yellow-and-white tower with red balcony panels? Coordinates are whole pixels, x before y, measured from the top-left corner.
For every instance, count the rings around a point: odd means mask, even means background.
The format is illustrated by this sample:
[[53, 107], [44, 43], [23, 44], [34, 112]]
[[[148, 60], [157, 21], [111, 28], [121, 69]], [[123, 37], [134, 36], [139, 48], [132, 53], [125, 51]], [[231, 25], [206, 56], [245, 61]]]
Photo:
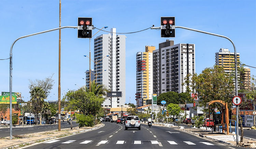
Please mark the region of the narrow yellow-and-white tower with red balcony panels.
[[[154, 46], [145, 46], [145, 52], [136, 54], [136, 101], [137, 106], [147, 104], [153, 94], [153, 50]], [[151, 102], [150, 102], [151, 103]]]

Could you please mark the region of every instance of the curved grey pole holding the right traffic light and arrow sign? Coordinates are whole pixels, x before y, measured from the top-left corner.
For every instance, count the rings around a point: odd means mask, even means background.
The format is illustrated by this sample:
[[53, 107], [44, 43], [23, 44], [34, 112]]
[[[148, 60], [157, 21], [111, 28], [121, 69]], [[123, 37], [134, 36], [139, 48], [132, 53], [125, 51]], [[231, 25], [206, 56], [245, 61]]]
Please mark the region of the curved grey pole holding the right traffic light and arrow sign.
[[[186, 29], [186, 30], [191, 30], [191, 31], [195, 31], [195, 32], [200, 32], [200, 33], [204, 33], [204, 34], [209, 34], [209, 35], [214, 35], [214, 36], [218, 36], [221, 38], [225, 38], [227, 40], [229, 40], [233, 47], [234, 47], [234, 62], [235, 62], [235, 89], [236, 89], [236, 96], [238, 96], [238, 81], [237, 81], [237, 49], [236, 46], [234, 45], [233, 41], [231, 39], [229, 39], [226, 36], [223, 35], [219, 35], [219, 34], [214, 34], [214, 33], [209, 33], [209, 32], [205, 32], [205, 31], [200, 31], [200, 30], [196, 30], [196, 29], [191, 29], [191, 28], [186, 28], [186, 27], [182, 27], [182, 26], [175, 26], [175, 28], [182, 28], [182, 29]], [[161, 27], [152, 27], [151, 29], [161, 29]], [[237, 134], [236, 134], [236, 143], [238, 145], [238, 141], [239, 141], [239, 131], [238, 131], [238, 106], [236, 106], [236, 129], [237, 129]]]

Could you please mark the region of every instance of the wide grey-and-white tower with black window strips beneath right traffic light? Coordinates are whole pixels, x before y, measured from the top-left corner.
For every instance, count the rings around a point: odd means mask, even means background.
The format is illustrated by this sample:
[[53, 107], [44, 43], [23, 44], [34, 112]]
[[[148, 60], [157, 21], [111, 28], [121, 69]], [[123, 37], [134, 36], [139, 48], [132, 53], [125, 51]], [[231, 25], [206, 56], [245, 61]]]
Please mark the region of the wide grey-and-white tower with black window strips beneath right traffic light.
[[[195, 74], [195, 44], [176, 44], [166, 40], [159, 44], [159, 94], [186, 92], [184, 78]], [[190, 76], [190, 78], [192, 77]], [[190, 88], [190, 90], [192, 90]]]

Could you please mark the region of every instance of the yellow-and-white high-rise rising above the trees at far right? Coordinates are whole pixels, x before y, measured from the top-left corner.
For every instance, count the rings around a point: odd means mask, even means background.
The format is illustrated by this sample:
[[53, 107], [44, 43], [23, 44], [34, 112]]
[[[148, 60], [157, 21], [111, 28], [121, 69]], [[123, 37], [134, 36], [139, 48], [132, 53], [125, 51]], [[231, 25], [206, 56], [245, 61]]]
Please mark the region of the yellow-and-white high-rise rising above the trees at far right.
[[[237, 60], [239, 59], [240, 53], [237, 53]], [[226, 73], [231, 73], [234, 70], [234, 53], [221, 48], [218, 53], [215, 53], [215, 65], [223, 67]]]

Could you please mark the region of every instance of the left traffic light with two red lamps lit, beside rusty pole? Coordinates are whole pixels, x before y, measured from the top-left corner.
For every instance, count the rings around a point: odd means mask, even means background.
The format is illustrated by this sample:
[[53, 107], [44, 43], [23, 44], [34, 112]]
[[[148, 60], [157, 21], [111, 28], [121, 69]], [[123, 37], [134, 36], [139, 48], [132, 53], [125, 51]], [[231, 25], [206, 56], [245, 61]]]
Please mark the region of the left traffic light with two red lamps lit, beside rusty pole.
[[78, 18], [77, 38], [91, 38], [92, 36], [91, 30], [93, 29], [92, 21], [93, 21], [93, 18], [85, 18], [85, 17]]

